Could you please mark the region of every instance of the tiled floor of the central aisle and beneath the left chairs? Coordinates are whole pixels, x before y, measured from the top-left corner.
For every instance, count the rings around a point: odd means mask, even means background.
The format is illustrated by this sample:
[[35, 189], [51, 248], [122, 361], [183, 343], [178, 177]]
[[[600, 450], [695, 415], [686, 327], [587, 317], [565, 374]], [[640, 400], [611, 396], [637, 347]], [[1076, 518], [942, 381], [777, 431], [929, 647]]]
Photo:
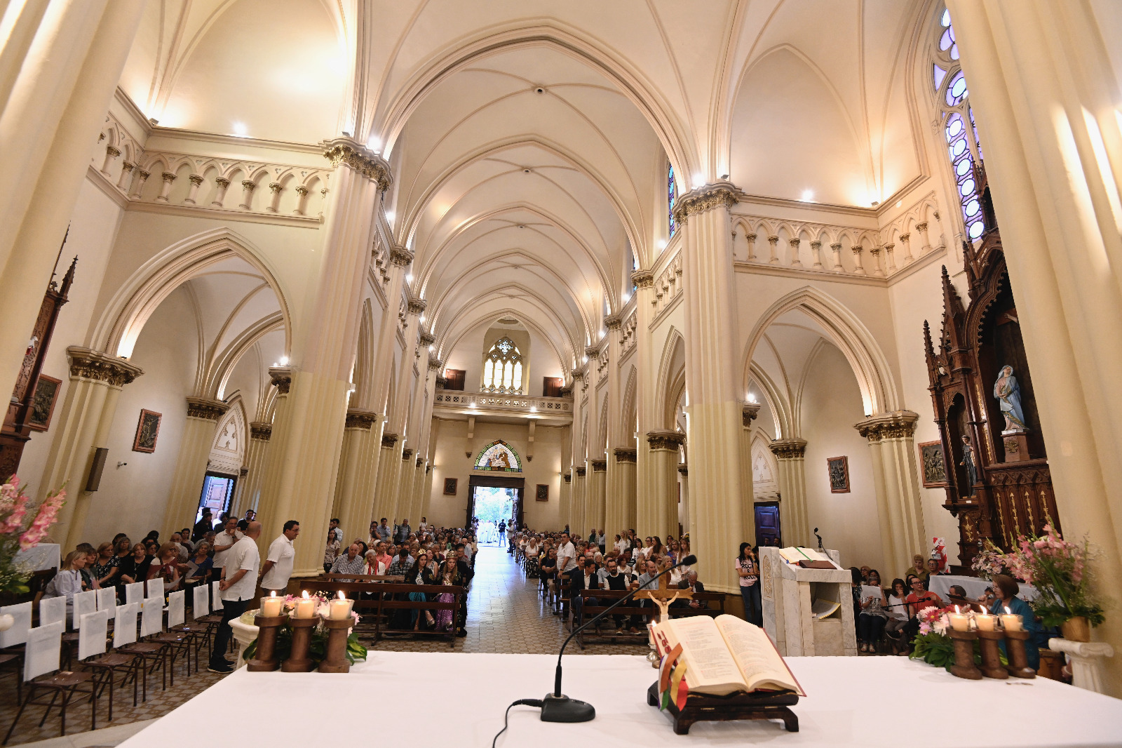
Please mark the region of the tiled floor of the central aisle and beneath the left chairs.
[[[537, 594], [537, 581], [526, 580], [522, 569], [506, 550], [497, 546], [480, 546], [476, 559], [476, 576], [471, 583], [471, 595], [468, 601], [468, 636], [456, 640], [453, 651], [462, 653], [526, 653], [552, 654], [564, 641], [568, 631], [562, 627], [561, 619], [553, 615]], [[643, 655], [646, 654], [645, 637], [636, 637], [635, 645], [588, 645], [581, 649], [572, 644], [565, 654], [591, 655]], [[387, 651], [449, 651], [447, 640], [441, 639], [383, 639], [377, 649]], [[131, 691], [122, 695], [118, 692], [113, 701], [113, 721], [104, 721], [105, 708], [102, 700], [98, 712], [99, 728], [96, 733], [72, 741], [46, 744], [42, 748], [56, 746], [116, 746], [131, 735], [119, 730], [123, 724], [150, 720], [172, 711], [195, 694], [215, 683], [221, 676], [201, 669], [197, 674], [183, 677], [182, 667], [176, 672], [175, 687], [159, 690], [157, 679], [155, 686], [149, 681], [148, 701], [132, 708]], [[16, 717], [16, 684], [11, 677], [0, 682], [0, 738]], [[57, 714], [57, 713], [55, 713]], [[53, 715], [39, 728], [43, 717], [42, 708], [29, 708], [19, 727], [11, 736], [8, 745], [28, 744], [58, 737], [58, 719]], [[90, 706], [77, 703], [71, 706], [66, 714], [67, 732], [74, 736], [88, 731], [90, 727]]]

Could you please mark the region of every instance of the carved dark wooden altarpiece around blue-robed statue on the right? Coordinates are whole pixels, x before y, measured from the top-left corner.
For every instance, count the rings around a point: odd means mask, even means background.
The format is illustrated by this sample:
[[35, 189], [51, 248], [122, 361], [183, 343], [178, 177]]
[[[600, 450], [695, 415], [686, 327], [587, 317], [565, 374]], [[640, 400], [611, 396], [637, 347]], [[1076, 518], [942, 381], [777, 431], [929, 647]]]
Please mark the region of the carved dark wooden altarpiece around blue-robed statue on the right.
[[[1019, 535], [1039, 532], [1046, 522], [1059, 529], [1032, 375], [981, 165], [975, 167], [975, 179], [985, 226], [990, 228], [977, 246], [963, 243], [969, 303], [963, 304], [944, 266], [942, 330], [937, 347], [928, 322], [923, 322], [928, 389], [946, 465], [944, 507], [958, 519], [956, 571], [967, 573], [985, 539], [1009, 550]], [[1005, 419], [994, 398], [994, 382], [1005, 365], [1012, 366], [1021, 387], [1028, 427], [1023, 435], [1003, 434]], [[973, 448], [977, 476], [974, 485], [964, 465], [964, 436]]]

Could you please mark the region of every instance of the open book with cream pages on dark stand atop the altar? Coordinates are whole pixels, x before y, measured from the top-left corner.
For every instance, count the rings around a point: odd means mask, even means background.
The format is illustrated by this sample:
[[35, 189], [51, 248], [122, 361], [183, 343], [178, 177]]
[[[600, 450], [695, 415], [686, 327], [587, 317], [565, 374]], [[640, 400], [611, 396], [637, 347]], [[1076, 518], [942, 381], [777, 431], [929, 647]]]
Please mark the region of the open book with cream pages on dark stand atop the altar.
[[690, 694], [807, 695], [767, 633], [735, 615], [669, 619], [652, 631], [660, 657], [681, 645]]

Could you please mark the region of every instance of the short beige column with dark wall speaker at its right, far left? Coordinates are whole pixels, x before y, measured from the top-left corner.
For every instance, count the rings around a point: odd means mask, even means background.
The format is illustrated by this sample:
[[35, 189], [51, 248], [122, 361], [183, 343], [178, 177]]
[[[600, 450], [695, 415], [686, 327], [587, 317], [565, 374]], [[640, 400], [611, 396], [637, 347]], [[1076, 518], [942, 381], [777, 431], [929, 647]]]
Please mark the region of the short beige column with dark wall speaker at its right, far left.
[[42, 484], [36, 491], [43, 500], [47, 493], [66, 484], [66, 502], [58, 510], [58, 522], [50, 535], [64, 548], [73, 549], [80, 542], [96, 540], [82, 535], [92, 499], [92, 492], [85, 491], [90, 467], [98, 447], [109, 444], [121, 387], [144, 372], [122, 358], [81, 346], [67, 348], [66, 357], [70, 384], [55, 412], [54, 440], [47, 453]]

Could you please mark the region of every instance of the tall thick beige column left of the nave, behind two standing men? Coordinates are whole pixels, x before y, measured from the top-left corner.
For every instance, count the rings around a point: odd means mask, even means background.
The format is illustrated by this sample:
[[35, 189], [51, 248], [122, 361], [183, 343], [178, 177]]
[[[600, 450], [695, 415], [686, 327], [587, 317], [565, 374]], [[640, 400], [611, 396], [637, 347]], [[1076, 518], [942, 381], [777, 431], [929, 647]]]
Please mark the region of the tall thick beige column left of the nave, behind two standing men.
[[[339, 473], [350, 376], [358, 348], [361, 303], [374, 241], [379, 195], [389, 186], [389, 164], [350, 138], [321, 144], [334, 171], [325, 207], [319, 282], [298, 328], [285, 429], [276, 449], [276, 512], [264, 538], [284, 520], [300, 520], [309, 538], [327, 536]], [[279, 428], [279, 427], [276, 427]], [[282, 445], [274, 445], [274, 448]], [[273, 451], [273, 450], [270, 450]], [[294, 576], [322, 573], [319, 541], [296, 546]]]

